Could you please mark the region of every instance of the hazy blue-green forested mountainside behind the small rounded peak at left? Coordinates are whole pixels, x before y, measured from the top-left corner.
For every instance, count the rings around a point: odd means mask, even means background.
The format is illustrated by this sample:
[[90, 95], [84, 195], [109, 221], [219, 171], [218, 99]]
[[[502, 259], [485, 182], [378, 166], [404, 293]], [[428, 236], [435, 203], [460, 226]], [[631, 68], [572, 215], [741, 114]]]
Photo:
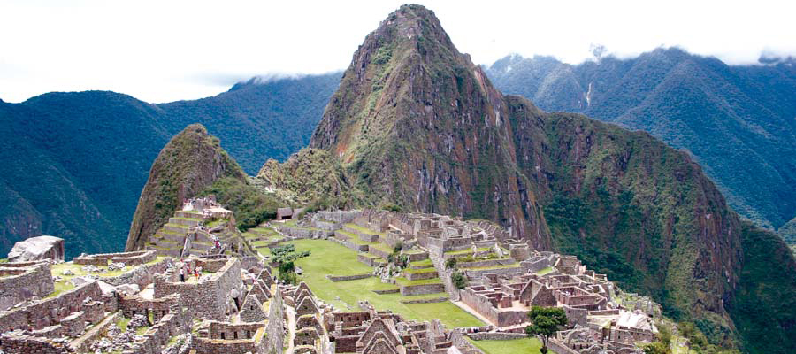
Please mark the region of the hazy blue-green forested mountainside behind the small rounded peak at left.
[[106, 91], [0, 103], [0, 253], [42, 234], [65, 238], [67, 258], [120, 250], [149, 166], [172, 135], [202, 123], [256, 173], [306, 146], [339, 81], [340, 73], [253, 79], [172, 104]]

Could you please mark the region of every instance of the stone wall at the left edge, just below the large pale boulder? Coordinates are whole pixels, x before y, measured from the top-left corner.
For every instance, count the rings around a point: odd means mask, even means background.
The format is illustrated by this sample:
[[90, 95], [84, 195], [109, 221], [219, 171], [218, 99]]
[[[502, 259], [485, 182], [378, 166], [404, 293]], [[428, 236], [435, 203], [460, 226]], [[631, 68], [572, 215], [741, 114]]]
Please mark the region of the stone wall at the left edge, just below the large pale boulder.
[[50, 263], [42, 262], [26, 268], [0, 267], [0, 272], [5, 275], [0, 278], [0, 311], [34, 296], [44, 297], [55, 291]]

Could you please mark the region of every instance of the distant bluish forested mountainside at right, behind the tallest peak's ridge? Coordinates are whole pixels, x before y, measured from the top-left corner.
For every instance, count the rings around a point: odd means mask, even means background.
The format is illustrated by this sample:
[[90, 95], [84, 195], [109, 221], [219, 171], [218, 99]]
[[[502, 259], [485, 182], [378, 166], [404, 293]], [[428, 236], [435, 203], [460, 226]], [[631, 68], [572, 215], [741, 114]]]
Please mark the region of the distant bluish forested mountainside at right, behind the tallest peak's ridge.
[[725, 65], [683, 50], [567, 65], [509, 56], [494, 85], [549, 111], [582, 112], [687, 150], [729, 204], [776, 229], [796, 217], [796, 65]]

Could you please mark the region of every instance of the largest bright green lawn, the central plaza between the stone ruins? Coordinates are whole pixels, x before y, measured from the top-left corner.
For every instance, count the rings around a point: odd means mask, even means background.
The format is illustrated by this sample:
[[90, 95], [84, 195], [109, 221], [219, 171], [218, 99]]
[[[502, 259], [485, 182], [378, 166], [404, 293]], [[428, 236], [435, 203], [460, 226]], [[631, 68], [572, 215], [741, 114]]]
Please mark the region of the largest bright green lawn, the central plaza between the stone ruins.
[[[484, 323], [470, 313], [464, 312], [450, 302], [433, 304], [401, 304], [401, 300], [434, 298], [444, 294], [429, 294], [422, 296], [401, 296], [401, 294], [379, 295], [374, 289], [395, 289], [393, 284], [385, 284], [377, 278], [366, 278], [356, 281], [333, 282], [326, 279], [326, 274], [353, 275], [371, 273], [372, 268], [356, 260], [356, 252], [340, 244], [326, 240], [296, 240], [296, 250], [310, 250], [309, 258], [296, 262], [301, 266], [303, 281], [310, 285], [316, 296], [327, 304], [345, 311], [346, 304], [352, 310], [358, 310], [356, 302], [367, 300], [379, 310], [391, 310], [402, 314], [407, 319], [429, 320], [440, 319], [447, 327], [479, 327]], [[259, 249], [264, 255], [268, 250]], [[439, 280], [437, 280], [439, 281]], [[337, 300], [337, 297], [340, 300]]]

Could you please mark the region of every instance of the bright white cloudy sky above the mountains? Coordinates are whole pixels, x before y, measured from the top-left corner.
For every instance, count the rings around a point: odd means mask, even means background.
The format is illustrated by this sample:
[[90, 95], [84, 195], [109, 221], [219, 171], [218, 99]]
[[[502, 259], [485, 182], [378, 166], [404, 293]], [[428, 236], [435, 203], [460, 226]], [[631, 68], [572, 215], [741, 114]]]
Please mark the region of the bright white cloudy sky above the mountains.
[[[153, 103], [212, 96], [254, 75], [344, 69], [402, 1], [0, 2], [0, 98], [109, 89]], [[679, 46], [731, 64], [796, 54], [796, 5], [669, 0], [418, 1], [463, 52], [578, 63]]]

